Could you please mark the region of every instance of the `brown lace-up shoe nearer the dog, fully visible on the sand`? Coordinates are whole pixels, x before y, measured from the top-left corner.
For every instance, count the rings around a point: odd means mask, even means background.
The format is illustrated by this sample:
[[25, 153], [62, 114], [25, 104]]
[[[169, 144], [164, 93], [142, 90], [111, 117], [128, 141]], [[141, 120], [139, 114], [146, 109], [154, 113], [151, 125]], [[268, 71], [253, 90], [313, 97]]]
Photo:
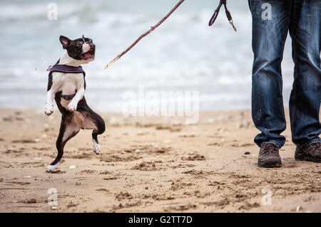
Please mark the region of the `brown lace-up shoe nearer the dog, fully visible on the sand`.
[[279, 149], [275, 144], [264, 143], [261, 145], [259, 157], [258, 157], [258, 167], [281, 167], [281, 157], [279, 154]]

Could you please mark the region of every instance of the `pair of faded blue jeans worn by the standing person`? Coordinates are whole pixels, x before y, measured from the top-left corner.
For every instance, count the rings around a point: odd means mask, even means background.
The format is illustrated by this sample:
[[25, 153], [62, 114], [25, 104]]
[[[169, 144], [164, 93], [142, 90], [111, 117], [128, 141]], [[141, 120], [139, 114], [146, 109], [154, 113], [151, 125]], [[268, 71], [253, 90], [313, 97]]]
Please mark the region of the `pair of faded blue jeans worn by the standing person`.
[[290, 95], [292, 142], [305, 148], [321, 142], [320, 0], [249, 0], [253, 19], [252, 117], [254, 141], [282, 147], [285, 112], [281, 62], [287, 32], [295, 63]]

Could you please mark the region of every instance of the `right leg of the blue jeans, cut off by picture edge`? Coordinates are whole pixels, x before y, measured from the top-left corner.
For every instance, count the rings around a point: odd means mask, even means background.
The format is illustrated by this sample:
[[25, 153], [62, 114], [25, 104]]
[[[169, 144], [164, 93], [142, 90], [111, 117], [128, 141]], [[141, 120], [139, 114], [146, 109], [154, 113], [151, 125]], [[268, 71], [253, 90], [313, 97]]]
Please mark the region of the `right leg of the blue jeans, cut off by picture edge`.
[[320, 0], [294, 1], [290, 36], [295, 73], [290, 96], [290, 120], [292, 141], [302, 149], [321, 142], [320, 20]]

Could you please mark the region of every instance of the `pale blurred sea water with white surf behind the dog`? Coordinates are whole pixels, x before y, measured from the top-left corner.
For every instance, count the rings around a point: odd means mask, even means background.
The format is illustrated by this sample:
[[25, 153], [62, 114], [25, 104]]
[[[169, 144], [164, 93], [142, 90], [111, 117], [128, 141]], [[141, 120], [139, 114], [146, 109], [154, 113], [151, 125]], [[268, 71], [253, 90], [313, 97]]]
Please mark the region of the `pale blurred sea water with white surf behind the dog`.
[[[47, 19], [48, 4], [58, 20]], [[251, 16], [248, 1], [230, 0], [212, 27], [218, 0], [185, 0], [169, 19], [130, 52], [103, 69], [155, 25], [176, 0], [0, 1], [0, 107], [44, 108], [48, 73], [63, 53], [60, 35], [96, 43], [86, 70], [86, 99], [94, 110], [121, 112], [126, 91], [199, 91], [200, 110], [250, 108]], [[282, 63], [285, 105], [292, 88], [290, 41]]]

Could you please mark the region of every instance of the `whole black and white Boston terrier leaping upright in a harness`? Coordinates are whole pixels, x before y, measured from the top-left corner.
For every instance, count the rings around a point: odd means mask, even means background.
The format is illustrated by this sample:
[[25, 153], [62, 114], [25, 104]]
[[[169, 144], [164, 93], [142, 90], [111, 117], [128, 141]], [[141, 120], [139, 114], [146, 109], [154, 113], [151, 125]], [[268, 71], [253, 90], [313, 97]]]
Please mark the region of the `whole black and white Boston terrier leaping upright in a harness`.
[[63, 156], [63, 147], [79, 130], [93, 130], [93, 152], [99, 154], [101, 147], [97, 135], [105, 132], [103, 118], [88, 107], [84, 97], [86, 89], [85, 75], [81, 64], [95, 58], [96, 46], [91, 38], [70, 40], [60, 36], [64, 51], [56, 65], [49, 67], [49, 82], [46, 97], [46, 115], [54, 112], [53, 100], [56, 100], [61, 112], [61, 126], [56, 141], [58, 155], [54, 162], [46, 167], [47, 172], [54, 171]]

